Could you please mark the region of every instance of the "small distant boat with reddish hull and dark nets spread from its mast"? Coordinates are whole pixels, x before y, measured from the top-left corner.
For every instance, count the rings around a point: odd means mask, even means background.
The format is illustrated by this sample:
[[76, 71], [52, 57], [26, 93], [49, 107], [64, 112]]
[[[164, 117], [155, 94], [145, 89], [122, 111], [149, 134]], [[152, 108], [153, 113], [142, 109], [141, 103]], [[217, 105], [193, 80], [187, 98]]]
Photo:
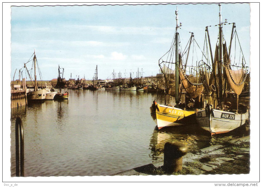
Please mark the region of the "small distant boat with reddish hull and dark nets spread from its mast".
[[[65, 91], [65, 88], [69, 85], [69, 81], [65, 80], [63, 78], [64, 75], [64, 68], [62, 72], [62, 77], [61, 77], [61, 72], [60, 72], [60, 66], [58, 65], [58, 77], [57, 79], [52, 79], [51, 84], [54, 88], [58, 89], [58, 93], [54, 97], [54, 99], [60, 100], [60, 99], [68, 99], [68, 92]], [[62, 93], [62, 89], [64, 89], [64, 93]]]

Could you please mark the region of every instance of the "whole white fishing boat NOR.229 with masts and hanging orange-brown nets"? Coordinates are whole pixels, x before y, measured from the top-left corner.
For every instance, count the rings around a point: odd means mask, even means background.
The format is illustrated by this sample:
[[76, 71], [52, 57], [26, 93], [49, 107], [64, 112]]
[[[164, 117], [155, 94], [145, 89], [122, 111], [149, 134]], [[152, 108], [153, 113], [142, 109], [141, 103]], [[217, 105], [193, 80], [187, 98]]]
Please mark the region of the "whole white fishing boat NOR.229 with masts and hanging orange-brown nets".
[[[221, 4], [219, 4], [219, 41], [216, 45], [214, 60], [211, 47], [209, 49], [212, 60], [209, 85], [211, 84], [213, 89], [205, 108], [196, 112], [197, 123], [211, 135], [232, 131], [245, 124], [249, 117], [247, 107], [239, 104], [238, 100], [247, 78], [248, 67], [245, 66], [241, 47], [237, 47], [236, 42], [234, 51], [239, 49], [239, 53], [236, 53], [239, 56], [239, 64], [235, 65], [237, 64], [236, 61], [231, 62], [231, 48], [234, 43], [232, 40], [233, 38], [237, 40], [238, 36], [235, 23], [232, 23], [230, 45], [227, 50], [222, 27], [228, 24], [230, 23], [227, 23], [227, 21], [222, 22]], [[208, 26], [206, 27], [206, 33], [209, 38]], [[238, 43], [240, 44], [239, 39]], [[210, 42], [209, 46], [211, 46]]]

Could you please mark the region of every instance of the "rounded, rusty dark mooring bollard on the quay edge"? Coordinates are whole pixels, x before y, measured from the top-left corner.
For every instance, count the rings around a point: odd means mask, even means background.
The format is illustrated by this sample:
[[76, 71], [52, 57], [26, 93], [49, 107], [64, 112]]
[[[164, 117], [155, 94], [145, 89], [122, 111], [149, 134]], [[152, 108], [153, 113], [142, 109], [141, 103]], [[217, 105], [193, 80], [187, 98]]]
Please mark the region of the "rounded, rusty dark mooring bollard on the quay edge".
[[183, 156], [187, 154], [187, 146], [182, 142], [167, 142], [164, 147], [164, 169], [167, 173], [182, 169]]

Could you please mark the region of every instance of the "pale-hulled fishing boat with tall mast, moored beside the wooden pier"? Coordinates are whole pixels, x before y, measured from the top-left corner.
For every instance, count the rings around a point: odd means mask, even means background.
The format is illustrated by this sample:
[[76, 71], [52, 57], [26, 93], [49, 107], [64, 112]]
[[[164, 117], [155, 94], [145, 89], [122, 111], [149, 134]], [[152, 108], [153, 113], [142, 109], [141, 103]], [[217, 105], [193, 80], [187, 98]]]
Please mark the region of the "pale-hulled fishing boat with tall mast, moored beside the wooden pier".
[[[27, 73], [30, 77], [30, 80], [33, 84], [33, 87], [34, 87], [34, 90], [32, 90], [32, 91], [30, 90], [27, 93], [27, 99], [29, 101], [43, 101], [46, 98], [46, 89], [44, 89], [43, 86], [41, 88], [38, 88], [37, 81], [36, 81], [36, 65], [38, 66], [38, 63], [37, 63], [37, 59], [36, 59], [36, 55], [35, 55], [35, 50], [34, 50], [33, 55], [34, 55], [33, 66], [34, 66], [34, 75], [35, 75], [35, 81], [34, 82], [32, 81], [32, 77], [30, 76], [30, 73], [29, 73], [29, 71], [26, 67], [26, 64], [31, 60], [29, 60], [27, 63], [24, 63], [24, 67], [26, 68], [26, 71], [27, 71]], [[39, 67], [38, 67], [38, 70], [39, 70]], [[40, 72], [39, 72], [39, 75], [40, 75], [40, 79], [41, 79], [41, 73]]]

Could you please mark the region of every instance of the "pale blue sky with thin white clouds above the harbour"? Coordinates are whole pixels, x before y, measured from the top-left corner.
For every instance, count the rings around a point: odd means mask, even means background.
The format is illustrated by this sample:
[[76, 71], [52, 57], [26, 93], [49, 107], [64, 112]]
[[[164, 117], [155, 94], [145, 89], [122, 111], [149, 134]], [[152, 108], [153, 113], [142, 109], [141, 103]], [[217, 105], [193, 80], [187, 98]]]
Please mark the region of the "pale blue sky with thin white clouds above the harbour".
[[[14, 79], [18, 79], [18, 70], [23, 70], [34, 49], [43, 80], [57, 78], [58, 65], [64, 68], [67, 80], [71, 73], [72, 78], [91, 80], [96, 65], [99, 79], [112, 78], [113, 70], [121, 77], [129, 77], [130, 72], [137, 77], [138, 69], [143, 76], [156, 75], [158, 61], [169, 50], [175, 33], [177, 7], [182, 48], [191, 36], [189, 32], [194, 32], [203, 48], [205, 27], [212, 26], [209, 34], [214, 50], [218, 4], [12, 6], [10, 77], [13, 79], [17, 69]], [[249, 63], [249, 4], [222, 4], [225, 19], [236, 23]], [[232, 25], [223, 27], [228, 42], [231, 30]], [[31, 69], [31, 62], [26, 65]]]

